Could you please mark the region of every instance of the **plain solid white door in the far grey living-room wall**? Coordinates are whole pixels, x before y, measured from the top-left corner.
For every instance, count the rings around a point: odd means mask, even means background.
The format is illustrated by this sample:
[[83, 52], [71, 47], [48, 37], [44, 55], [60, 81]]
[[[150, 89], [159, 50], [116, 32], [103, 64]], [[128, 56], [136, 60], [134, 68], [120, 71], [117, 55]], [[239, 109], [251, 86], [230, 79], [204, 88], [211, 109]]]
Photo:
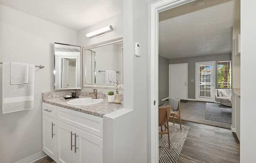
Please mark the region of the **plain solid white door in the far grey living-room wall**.
[[187, 100], [188, 63], [169, 65], [169, 97]]

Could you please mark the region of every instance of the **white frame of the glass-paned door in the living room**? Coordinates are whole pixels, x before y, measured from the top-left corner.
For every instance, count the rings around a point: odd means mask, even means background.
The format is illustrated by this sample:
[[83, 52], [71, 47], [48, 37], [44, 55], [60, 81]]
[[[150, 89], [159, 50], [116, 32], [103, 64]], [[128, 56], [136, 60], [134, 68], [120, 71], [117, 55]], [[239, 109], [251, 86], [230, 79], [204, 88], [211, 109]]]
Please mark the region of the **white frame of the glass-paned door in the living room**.
[[[199, 87], [198, 87], [198, 75], [197, 75], [197, 65], [198, 64], [200, 64], [200, 63], [214, 63], [214, 67], [213, 67], [213, 70], [214, 70], [214, 76], [213, 76], [213, 81], [214, 81], [214, 86], [213, 86], [213, 90], [212, 90], [212, 92], [211, 92], [211, 96], [212, 96], [212, 98], [213, 98], [213, 101], [212, 100], [199, 100], [198, 99], [198, 89], [199, 89]], [[215, 89], [216, 89], [216, 61], [207, 61], [207, 62], [196, 62], [195, 63], [195, 66], [196, 66], [196, 77], [195, 77], [195, 79], [196, 79], [196, 101], [206, 101], [206, 102], [214, 102], [215, 100], [214, 100], [214, 93], [215, 93]], [[212, 99], [212, 98], [208, 98], [208, 99]]]

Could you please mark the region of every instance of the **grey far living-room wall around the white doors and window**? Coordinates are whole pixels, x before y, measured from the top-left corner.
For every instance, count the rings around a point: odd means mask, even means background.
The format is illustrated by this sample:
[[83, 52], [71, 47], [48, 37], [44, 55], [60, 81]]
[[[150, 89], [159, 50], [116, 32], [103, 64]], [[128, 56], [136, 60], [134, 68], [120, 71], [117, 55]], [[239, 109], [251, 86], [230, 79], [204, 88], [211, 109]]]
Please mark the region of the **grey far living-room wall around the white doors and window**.
[[[169, 60], [169, 64], [188, 63], [188, 98], [196, 98], [196, 62], [210, 62], [215, 61], [215, 69], [217, 70], [218, 61], [231, 60], [231, 54], [219, 54], [219, 55], [207, 55], [207, 56], [196, 56], [188, 58], [178, 58]], [[217, 71], [216, 72], [216, 84], [217, 85]], [[194, 80], [192, 82], [192, 80]]]

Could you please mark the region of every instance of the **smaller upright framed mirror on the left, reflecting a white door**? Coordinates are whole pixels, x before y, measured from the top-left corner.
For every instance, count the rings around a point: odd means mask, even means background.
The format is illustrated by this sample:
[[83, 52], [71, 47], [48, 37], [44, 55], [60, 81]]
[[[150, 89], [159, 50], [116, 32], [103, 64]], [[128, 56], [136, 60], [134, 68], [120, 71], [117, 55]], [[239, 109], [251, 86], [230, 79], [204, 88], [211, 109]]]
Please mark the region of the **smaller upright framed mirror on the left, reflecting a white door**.
[[54, 89], [80, 89], [81, 47], [54, 43]]

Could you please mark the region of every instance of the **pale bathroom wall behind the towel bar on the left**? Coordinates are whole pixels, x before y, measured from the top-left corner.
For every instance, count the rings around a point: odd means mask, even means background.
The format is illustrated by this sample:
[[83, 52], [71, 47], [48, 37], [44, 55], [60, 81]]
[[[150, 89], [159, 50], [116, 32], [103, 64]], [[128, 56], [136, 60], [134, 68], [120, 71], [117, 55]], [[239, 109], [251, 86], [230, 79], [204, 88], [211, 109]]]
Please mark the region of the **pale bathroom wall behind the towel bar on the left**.
[[1, 163], [42, 150], [42, 92], [53, 90], [53, 42], [77, 44], [76, 32], [0, 5], [0, 62], [45, 66], [35, 69], [34, 109], [0, 114]]

